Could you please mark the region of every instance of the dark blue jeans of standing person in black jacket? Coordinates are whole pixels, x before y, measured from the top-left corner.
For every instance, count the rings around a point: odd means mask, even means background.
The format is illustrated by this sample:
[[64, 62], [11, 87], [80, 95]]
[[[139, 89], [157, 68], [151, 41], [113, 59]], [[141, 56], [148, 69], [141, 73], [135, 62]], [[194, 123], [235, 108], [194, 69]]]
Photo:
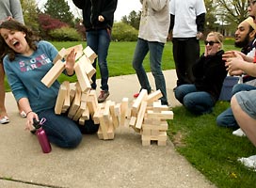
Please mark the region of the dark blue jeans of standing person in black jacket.
[[[111, 41], [110, 30], [92, 30], [87, 31], [87, 45], [98, 55], [98, 65], [101, 73], [101, 88], [102, 90], [108, 90], [108, 68], [106, 57], [108, 53], [109, 44]], [[96, 69], [97, 59], [93, 62], [93, 67]], [[91, 87], [96, 89], [96, 73], [91, 77]]]

